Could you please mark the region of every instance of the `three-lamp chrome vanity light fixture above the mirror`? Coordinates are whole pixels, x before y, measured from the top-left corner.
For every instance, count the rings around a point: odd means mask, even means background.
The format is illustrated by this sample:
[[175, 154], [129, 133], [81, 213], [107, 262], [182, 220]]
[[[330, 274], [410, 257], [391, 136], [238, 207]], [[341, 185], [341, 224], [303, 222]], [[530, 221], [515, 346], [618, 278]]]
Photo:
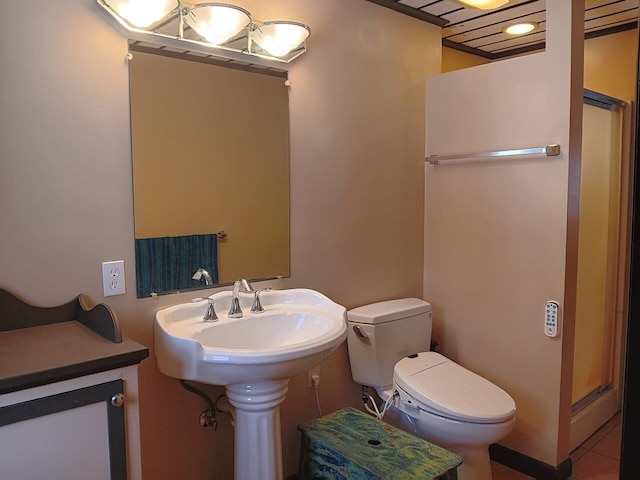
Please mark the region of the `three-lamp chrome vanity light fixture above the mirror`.
[[[238, 6], [226, 3], [183, 4], [179, 0], [97, 0], [135, 40], [152, 37], [205, 47], [232, 58], [249, 55], [289, 63], [306, 52], [308, 26], [292, 22], [257, 22]], [[148, 36], [148, 37], [147, 37]], [[185, 49], [189, 49], [185, 46]], [[199, 51], [203, 51], [201, 48]], [[248, 59], [247, 59], [248, 60]]]

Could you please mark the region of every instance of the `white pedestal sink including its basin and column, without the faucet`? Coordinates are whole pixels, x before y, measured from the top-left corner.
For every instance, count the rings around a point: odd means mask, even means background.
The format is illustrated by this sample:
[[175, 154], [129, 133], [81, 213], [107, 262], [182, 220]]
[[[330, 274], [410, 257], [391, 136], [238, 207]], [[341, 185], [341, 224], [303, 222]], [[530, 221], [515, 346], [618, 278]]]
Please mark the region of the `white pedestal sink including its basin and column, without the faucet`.
[[263, 313], [229, 318], [231, 292], [213, 299], [219, 320], [203, 321], [207, 301], [160, 310], [154, 328], [160, 371], [226, 386], [236, 408], [236, 480], [281, 480], [280, 410], [289, 379], [328, 357], [346, 339], [346, 310], [313, 290], [263, 292]]

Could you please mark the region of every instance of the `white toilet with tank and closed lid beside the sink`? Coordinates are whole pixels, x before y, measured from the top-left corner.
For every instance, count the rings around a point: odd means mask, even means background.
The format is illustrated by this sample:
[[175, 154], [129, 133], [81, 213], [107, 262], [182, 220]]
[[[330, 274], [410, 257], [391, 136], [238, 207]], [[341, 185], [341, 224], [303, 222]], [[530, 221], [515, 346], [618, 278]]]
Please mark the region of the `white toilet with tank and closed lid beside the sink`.
[[431, 305], [405, 298], [347, 315], [353, 379], [374, 387], [383, 401], [395, 396], [384, 420], [459, 454], [459, 480], [491, 479], [489, 445], [513, 429], [515, 402], [500, 387], [428, 351]]

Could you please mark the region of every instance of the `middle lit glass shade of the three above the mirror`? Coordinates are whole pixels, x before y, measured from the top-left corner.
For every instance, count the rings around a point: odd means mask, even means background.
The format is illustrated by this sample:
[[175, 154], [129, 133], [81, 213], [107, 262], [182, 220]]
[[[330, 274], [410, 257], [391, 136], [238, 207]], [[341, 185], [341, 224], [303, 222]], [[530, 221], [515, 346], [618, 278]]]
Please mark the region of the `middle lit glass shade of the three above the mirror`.
[[202, 3], [190, 8], [184, 19], [207, 42], [222, 45], [251, 23], [251, 14], [235, 5]]

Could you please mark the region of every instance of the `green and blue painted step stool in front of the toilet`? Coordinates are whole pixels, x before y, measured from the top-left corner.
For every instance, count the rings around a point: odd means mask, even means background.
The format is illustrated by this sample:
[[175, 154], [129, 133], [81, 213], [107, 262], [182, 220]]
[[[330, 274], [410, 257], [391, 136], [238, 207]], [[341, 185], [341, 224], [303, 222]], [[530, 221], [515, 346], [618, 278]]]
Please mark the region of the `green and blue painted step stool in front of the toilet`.
[[460, 456], [344, 408], [298, 426], [301, 480], [456, 480]]

